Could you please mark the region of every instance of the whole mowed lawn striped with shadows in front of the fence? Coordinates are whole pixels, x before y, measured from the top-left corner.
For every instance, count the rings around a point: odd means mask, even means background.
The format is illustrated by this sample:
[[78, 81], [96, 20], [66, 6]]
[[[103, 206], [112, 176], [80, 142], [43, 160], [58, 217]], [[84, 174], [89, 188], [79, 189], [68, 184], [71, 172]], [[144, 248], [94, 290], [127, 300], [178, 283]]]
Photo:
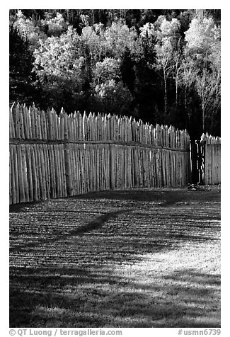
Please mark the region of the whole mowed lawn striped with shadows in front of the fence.
[[11, 327], [219, 327], [220, 193], [10, 207]]

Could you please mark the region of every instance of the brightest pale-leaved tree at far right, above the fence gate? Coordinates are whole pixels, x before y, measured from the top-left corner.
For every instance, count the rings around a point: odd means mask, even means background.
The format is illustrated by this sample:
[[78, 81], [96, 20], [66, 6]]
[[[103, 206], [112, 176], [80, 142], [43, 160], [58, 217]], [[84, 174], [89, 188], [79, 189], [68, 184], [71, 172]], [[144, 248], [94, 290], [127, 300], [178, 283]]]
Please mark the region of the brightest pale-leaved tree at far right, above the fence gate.
[[220, 29], [213, 18], [198, 12], [185, 32], [185, 41], [185, 55], [189, 60], [187, 68], [192, 73], [191, 79], [200, 97], [202, 131], [205, 132], [209, 125], [207, 131], [210, 132], [220, 108]]

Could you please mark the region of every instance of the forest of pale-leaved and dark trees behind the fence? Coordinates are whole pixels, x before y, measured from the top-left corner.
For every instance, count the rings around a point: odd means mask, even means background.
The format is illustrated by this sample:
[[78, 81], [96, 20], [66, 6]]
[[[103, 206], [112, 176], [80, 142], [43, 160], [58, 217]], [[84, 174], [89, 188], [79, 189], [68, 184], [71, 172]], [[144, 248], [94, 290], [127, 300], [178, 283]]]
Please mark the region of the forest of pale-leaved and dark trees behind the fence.
[[10, 103], [220, 136], [220, 10], [10, 11]]

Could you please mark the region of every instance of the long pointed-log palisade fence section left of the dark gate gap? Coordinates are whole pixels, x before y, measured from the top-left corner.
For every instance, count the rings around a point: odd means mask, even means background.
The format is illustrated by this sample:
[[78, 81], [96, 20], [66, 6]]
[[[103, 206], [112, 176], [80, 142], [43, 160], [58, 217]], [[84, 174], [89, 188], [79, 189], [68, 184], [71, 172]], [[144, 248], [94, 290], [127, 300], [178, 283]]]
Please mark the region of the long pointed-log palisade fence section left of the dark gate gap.
[[190, 180], [190, 138], [174, 127], [19, 104], [9, 122], [10, 204]]

